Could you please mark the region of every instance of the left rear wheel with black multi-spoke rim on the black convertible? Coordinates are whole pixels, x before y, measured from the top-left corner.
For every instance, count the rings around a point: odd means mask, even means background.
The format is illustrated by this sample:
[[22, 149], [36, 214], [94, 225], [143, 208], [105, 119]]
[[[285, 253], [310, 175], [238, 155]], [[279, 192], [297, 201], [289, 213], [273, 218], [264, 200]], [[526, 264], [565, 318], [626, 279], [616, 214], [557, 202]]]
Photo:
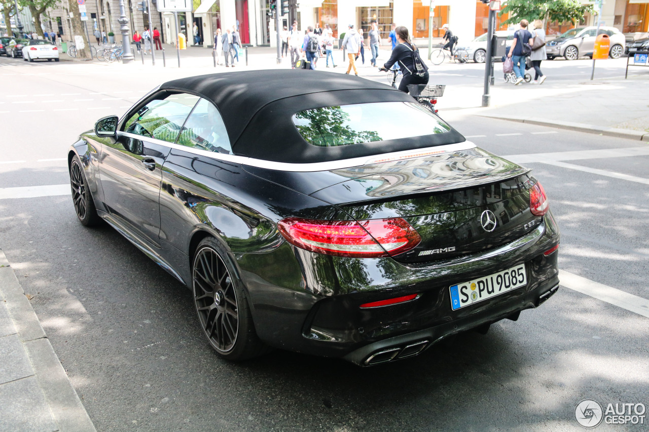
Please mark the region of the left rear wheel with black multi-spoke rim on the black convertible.
[[268, 348], [257, 337], [243, 283], [214, 237], [199, 243], [191, 265], [191, 292], [203, 334], [224, 359], [241, 361]]

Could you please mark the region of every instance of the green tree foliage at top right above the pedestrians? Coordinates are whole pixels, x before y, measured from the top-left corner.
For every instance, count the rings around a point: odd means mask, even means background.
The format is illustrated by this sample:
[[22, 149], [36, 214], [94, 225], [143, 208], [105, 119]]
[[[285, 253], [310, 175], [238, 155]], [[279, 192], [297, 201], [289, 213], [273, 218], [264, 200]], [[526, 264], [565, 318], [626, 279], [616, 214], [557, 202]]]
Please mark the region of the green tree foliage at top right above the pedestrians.
[[586, 13], [594, 13], [593, 5], [582, 5], [580, 0], [508, 0], [500, 16], [509, 14], [504, 24], [518, 23], [521, 19], [564, 23], [583, 19]]

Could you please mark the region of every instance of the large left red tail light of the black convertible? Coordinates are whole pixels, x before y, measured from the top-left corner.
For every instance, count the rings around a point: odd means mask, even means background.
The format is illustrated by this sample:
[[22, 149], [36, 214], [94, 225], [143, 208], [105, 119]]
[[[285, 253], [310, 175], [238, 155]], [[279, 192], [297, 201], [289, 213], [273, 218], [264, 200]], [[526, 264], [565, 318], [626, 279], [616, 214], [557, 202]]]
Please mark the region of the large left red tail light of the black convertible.
[[421, 236], [400, 217], [369, 221], [319, 221], [289, 217], [277, 222], [284, 238], [302, 249], [334, 256], [380, 258], [419, 245]]

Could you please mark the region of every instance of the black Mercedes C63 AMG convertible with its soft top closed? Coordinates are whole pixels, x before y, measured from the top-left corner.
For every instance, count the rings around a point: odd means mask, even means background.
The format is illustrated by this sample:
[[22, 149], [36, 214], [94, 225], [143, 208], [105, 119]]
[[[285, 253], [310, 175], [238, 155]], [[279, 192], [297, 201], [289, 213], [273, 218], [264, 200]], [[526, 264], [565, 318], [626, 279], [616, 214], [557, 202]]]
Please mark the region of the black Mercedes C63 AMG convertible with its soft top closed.
[[108, 222], [190, 287], [227, 359], [395, 361], [558, 288], [559, 231], [530, 170], [370, 80], [169, 81], [68, 160], [82, 224]]

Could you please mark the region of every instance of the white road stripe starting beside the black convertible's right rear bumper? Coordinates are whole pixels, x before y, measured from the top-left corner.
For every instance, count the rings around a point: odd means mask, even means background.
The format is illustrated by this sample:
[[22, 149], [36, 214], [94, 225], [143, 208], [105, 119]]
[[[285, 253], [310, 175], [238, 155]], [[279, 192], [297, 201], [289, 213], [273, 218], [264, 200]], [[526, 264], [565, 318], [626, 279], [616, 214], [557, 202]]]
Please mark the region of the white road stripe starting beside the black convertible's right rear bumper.
[[597, 300], [602, 300], [602, 302], [622, 307], [622, 309], [649, 318], [649, 300], [645, 298], [625, 293], [619, 289], [602, 285], [602, 283], [582, 278], [582, 276], [577, 276], [564, 270], [559, 270], [559, 284], [562, 287], [572, 289], [578, 293], [586, 294]]

